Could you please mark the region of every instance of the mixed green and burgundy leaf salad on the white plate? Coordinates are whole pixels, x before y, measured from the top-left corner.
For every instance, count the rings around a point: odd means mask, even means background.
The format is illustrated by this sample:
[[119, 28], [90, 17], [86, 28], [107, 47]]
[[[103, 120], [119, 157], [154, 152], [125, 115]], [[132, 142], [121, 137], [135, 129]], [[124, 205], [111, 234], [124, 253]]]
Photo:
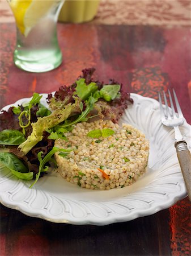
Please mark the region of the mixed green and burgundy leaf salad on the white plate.
[[56, 166], [55, 152], [65, 157], [73, 150], [55, 147], [56, 139], [67, 141], [65, 134], [74, 125], [93, 117], [117, 122], [133, 104], [122, 84], [94, 81], [94, 72], [94, 68], [84, 69], [72, 85], [48, 94], [48, 108], [41, 104], [42, 96], [34, 93], [27, 104], [0, 113], [0, 164], [20, 179], [33, 180], [30, 187], [50, 170], [51, 163]]

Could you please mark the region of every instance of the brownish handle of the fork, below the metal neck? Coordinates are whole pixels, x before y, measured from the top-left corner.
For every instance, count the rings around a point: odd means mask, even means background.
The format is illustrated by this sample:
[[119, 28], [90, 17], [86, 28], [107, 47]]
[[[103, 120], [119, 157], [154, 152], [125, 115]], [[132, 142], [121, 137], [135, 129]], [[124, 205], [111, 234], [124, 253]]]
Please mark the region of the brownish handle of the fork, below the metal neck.
[[175, 143], [177, 157], [184, 177], [188, 198], [191, 201], [191, 155], [185, 141]]

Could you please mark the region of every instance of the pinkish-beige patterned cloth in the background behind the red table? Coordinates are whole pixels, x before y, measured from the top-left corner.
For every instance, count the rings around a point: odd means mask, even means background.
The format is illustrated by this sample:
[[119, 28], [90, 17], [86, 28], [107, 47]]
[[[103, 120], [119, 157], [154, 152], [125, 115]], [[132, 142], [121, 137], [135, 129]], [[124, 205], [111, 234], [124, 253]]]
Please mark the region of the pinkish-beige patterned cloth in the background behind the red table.
[[[190, 26], [190, 10], [190, 0], [100, 0], [92, 23]], [[14, 22], [5, 0], [0, 0], [0, 22]]]

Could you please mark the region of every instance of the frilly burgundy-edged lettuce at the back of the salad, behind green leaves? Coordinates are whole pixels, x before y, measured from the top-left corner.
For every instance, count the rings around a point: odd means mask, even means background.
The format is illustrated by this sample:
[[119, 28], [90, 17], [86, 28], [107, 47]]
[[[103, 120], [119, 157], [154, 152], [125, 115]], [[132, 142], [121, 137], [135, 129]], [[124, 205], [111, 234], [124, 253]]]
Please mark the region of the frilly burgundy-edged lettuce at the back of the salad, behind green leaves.
[[[95, 81], [93, 78], [95, 72], [95, 68], [86, 68], [82, 70], [82, 75], [80, 75], [77, 79], [82, 80], [85, 79], [86, 85], [91, 85], [95, 83], [97, 90], [100, 91], [105, 85], [103, 82]], [[103, 98], [99, 98], [95, 103], [94, 111], [92, 111], [92, 115], [95, 115], [95, 110], [99, 113], [100, 118], [111, 119], [113, 122], [117, 122], [121, 115], [124, 113], [124, 110], [128, 108], [129, 104], [133, 104], [133, 99], [130, 97], [129, 92], [125, 92], [124, 86], [114, 79], [110, 79], [108, 85], [120, 85], [120, 91], [118, 93], [118, 97], [114, 98], [111, 101], [105, 101]], [[106, 85], [107, 86], [107, 85]], [[73, 103], [74, 98], [73, 95], [78, 94], [77, 90], [77, 82], [70, 86], [61, 86], [59, 90], [53, 96], [52, 94], [48, 95], [47, 101], [52, 109], [62, 108], [66, 104]], [[78, 97], [75, 95], [75, 97]], [[83, 102], [83, 101], [82, 101]]]

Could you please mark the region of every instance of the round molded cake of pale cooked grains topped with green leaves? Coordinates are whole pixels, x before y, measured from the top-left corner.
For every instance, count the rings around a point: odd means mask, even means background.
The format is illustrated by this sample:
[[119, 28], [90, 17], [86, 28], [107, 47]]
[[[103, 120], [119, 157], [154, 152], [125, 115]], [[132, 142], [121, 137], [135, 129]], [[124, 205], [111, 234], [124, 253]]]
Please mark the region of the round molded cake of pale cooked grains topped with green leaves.
[[68, 141], [57, 139], [55, 146], [73, 151], [68, 155], [56, 153], [57, 171], [82, 188], [122, 188], [146, 171], [149, 142], [131, 125], [82, 122], [66, 136]]

